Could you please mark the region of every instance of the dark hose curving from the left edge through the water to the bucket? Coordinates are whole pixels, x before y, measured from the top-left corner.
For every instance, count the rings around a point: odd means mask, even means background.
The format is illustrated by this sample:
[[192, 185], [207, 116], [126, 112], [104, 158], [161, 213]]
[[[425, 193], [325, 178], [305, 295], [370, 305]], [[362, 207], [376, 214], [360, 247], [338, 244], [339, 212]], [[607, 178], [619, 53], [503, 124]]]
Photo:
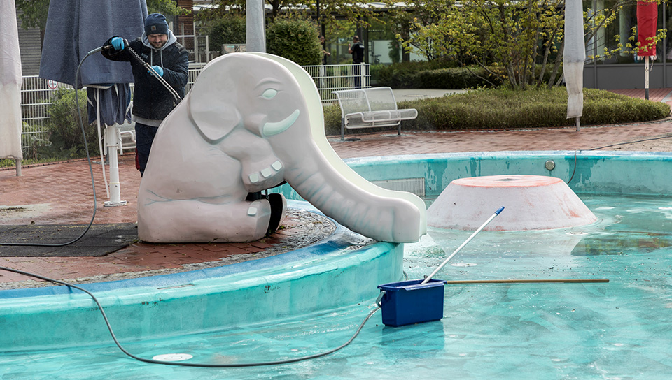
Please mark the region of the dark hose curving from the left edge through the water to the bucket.
[[98, 302], [98, 299], [96, 298], [95, 295], [93, 295], [90, 291], [87, 291], [85, 288], [81, 288], [80, 286], [76, 286], [74, 284], [69, 284], [67, 282], [62, 282], [57, 279], [50, 279], [49, 277], [44, 277], [41, 275], [36, 275], [34, 273], [30, 272], [24, 272], [22, 270], [17, 270], [17, 269], [12, 269], [12, 268], [5, 268], [0, 266], [0, 270], [6, 270], [8, 272], [14, 272], [18, 273], [20, 275], [25, 275], [29, 277], [35, 277], [38, 279], [43, 279], [44, 281], [48, 282], [53, 282], [54, 284], [59, 284], [59, 285], [64, 285], [68, 286], [70, 288], [75, 288], [79, 291], [83, 291], [84, 293], [87, 293], [94, 302], [96, 302], [96, 305], [98, 305], [98, 309], [100, 310], [100, 313], [103, 315], [103, 319], [105, 320], [105, 324], [107, 326], [107, 329], [110, 332], [110, 335], [112, 336], [112, 339], [114, 340], [114, 343], [119, 347], [119, 349], [125, 353], [127, 356], [130, 356], [131, 358], [134, 358], [135, 360], [139, 360], [144, 363], [151, 363], [151, 364], [163, 364], [163, 365], [178, 365], [181, 367], [204, 367], [204, 368], [239, 368], [239, 367], [261, 367], [264, 365], [281, 365], [281, 364], [289, 364], [289, 363], [297, 363], [300, 361], [304, 360], [309, 360], [309, 359], [315, 359], [315, 358], [320, 358], [321, 356], [326, 356], [329, 355], [330, 353], [334, 353], [338, 351], [339, 349], [344, 348], [348, 344], [350, 344], [356, 337], [359, 335], [360, 331], [364, 327], [365, 323], [373, 316], [375, 312], [377, 312], [380, 307], [374, 308], [362, 321], [360, 324], [359, 328], [355, 331], [355, 333], [352, 335], [352, 337], [345, 342], [344, 344], [336, 347], [335, 349], [331, 349], [329, 351], [321, 352], [321, 353], [316, 353], [314, 355], [309, 355], [309, 356], [301, 356], [299, 358], [293, 358], [293, 359], [286, 359], [286, 360], [276, 360], [276, 361], [271, 361], [271, 362], [260, 362], [260, 363], [239, 363], [239, 364], [208, 364], [208, 363], [179, 363], [179, 362], [169, 362], [169, 361], [164, 361], [164, 360], [154, 360], [154, 359], [146, 359], [146, 358], [141, 358], [139, 356], [135, 356], [126, 349], [119, 343], [117, 340], [116, 335], [114, 335], [114, 331], [112, 330], [112, 326], [110, 325], [110, 321], [107, 319], [107, 316], [103, 310], [102, 305], [100, 305], [100, 302]]

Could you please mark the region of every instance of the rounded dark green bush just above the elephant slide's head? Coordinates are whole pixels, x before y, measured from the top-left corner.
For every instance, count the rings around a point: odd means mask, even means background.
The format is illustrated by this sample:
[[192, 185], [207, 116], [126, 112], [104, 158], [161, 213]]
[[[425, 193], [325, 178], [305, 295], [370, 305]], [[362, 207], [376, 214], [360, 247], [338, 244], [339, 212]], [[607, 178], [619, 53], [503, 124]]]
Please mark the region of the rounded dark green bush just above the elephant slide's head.
[[316, 25], [299, 18], [278, 17], [269, 24], [266, 50], [302, 66], [318, 65], [322, 60]]

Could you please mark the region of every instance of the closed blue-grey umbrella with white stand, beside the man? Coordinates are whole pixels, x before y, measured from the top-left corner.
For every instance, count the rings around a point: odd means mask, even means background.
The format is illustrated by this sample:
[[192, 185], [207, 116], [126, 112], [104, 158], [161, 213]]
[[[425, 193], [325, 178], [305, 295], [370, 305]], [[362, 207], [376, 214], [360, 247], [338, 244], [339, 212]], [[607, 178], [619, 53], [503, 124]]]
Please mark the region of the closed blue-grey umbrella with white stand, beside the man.
[[[50, 2], [40, 77], [78, 88], [86, 86], [88, 119], [89, 122], [97, 120], [99, 132], [102, 124], [114, 126], [123, 124], [125, 119], [130, 121], [128, 84], [133, 82], [131, 67], [126, 62], [110, 61], [101, 54], [93, 54], [83, 62], [79, 78], [76, 78], [77, 68], [88, 52], [101, 47], [111, 36], [127, 39], [140, 36], [147, 15], [145, 0]], [[117, 140], [118, 131], [106, 131], [106, 136]], [[111, 142], [109, 139], [107, 143], [115, 147], [120, 145], [119, 141]], [[114, 154], [110, 154], [110, 182], [116, 188], [113, 188], [110, 202], [105, 205], [124, 205], [125, 201], [120, 200], [118, 191], [117, 151], [111, 150]]]

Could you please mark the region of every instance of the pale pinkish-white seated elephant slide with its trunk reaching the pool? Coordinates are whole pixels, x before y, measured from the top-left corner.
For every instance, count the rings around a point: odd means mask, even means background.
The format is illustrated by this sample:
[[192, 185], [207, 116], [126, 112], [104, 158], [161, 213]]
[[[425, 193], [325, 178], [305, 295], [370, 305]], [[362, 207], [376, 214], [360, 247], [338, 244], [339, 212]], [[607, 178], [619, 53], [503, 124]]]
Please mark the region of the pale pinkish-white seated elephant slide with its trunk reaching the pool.
[[288, 182], [328, 217], [386, 242], [416, 242], [426, 208], [367, 182], [324, 134], [308, 73], [265, 53], [218, 57], [156, 134], [138, 196], [146, 242], [248, 242], [274, 231], [286, 201], [251, 193]]

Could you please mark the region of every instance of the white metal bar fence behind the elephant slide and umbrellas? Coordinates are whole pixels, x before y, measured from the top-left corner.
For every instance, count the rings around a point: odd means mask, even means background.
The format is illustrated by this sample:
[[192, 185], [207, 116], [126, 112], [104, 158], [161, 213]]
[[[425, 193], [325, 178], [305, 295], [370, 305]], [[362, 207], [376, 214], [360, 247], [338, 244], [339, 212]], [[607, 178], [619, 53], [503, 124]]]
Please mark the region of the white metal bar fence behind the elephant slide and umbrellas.
[[[205, 64], [192, 64], [189, 68], [189, 79], [185, 91], [188, 92], [196, 81]], [[370, 65], [316, 65], [302, 66], [313, 78], [320, 94], [322, 103], [335, 103], [336, 96], [332, 91], [371, 87]], [[71, 85], [39, 78], [37, 75], [23, 77], [21, 87], [21, 147], [26, 149], [36, 142], [49, 140], [48, 119], [49, 107], [54, 103], [58, 89], [72, 89]], [[133, 85], [131, 85], [131, 91]], [[86, 99], [81, 99], [86, 101]], [[86, 117], [86, 115], [84, 115]]]

